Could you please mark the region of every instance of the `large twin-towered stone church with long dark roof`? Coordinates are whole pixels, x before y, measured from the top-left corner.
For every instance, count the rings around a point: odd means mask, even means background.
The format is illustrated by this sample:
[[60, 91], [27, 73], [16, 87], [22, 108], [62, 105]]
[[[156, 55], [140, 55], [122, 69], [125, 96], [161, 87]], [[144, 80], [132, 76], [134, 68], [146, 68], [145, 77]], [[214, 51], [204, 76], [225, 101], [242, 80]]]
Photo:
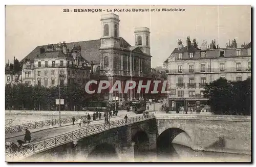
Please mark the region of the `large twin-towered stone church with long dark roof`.
[[[119, 36], [120, 20], [118, 15], [101, 15], [100, 21], [102, 30], [100, 39], [65, 43], [67, 48], [79, 47], [78, 52], [81, 57], [86, 62], [90, 62], [90, 79], [98, 81], [109, 80], [110, 83], [120, 80], [122, 88], [125, 86], [126, 80], [135, 80], [136, 82], [139, 80], [145, 82], [152, 80], [150, 30], [147, 27], [136, 27], [134, 31], [135, 46], [131, 46]], [[51, 46], [56, 48], [57, 44]], [[21, 62], [26, 62], [27, 60], [33, 62], [37, 55], [40, 54], [40, 50], [47, 47], [48, 45], [37, 46]], [[72, 77], [66, 72], [65, 76], [67, 78]], [[106, 101], [130, 101], [144, 100], [148, 98], [147, 96], [149, 95], [145, 95], [143, 92], [136, 93], [135, 89], [127, 94], [119, 94], [117, 91], [109, 94], [106, 91], [102, 92], [99, 98]]]

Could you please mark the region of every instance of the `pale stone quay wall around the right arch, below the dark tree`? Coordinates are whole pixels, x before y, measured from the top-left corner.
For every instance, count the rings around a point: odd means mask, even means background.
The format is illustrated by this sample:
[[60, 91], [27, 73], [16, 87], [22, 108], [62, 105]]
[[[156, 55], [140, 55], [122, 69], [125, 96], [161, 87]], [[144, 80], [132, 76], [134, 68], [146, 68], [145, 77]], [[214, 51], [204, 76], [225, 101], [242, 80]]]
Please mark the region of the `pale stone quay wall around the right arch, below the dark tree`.
[[156, 119], [159, 135], [179, 128], [185, 133], [175, 138], [175, 143], [193, 150], [251, 154], [250, 116], [156, 115]]

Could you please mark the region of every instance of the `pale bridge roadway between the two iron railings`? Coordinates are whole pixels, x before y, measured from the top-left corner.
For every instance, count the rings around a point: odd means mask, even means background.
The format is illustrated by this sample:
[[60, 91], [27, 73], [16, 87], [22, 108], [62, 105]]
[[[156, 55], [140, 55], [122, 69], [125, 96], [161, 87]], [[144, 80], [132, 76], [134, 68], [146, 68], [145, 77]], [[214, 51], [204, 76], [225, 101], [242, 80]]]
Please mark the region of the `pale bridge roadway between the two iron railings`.
[[[124, 116], [127, 115], [128, 118], [130, 117], [135, 117], [139, 116], [142, 114], [135, 114], [133, 112], [126, 112], [125, 110], [121, 110], [118, 112], [118, 116], [113, 116], [110, 118], [110, 122], [120, 120], [124, 118]], [[101, 120], [95, 120], [91, 121], [91, 126], [97, 125], [97, 124], [102, 124], [104, 123], [104, 117]], [[81, 124], [81, 128], [88, 127], [88, 126], [83, 126]], [[36, 141], [41, 141], [49, 137], [54, 137], [63, 133], [68, 133], [71, 131], [79, 130], [80, 128], [78, 127], [78, 124], [76, 123], [75, 125], [72, 124], [65, 124], [61, 127], [59, 126], [47, 126], [47, 127], [42, 127], [38, 129], [32, 129], [31, 131], [31, 142], [36, 142]], [[17, 132], [17, 133], [12, 133], [12, 134], [6, 134], [5, 135], [5, 141], [6, 142], [13, 142], [16, 143], [17, 140], [23, 140], [24, 141], [24, 136], [25, 132]]]

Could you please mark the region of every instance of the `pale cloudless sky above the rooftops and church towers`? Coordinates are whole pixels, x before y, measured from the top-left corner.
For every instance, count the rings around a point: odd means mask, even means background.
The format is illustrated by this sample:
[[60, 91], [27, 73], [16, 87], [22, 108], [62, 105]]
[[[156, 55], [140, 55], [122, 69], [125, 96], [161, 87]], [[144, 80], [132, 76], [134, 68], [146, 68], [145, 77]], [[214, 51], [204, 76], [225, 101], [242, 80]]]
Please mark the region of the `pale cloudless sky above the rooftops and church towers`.
[[[63, 9], [102, 9], [105, 12], [63, 12]], [[114, 9], [155, 9], [152, 12], [113, 12]], [[185, 9], [164, 12], [166, 9]], [[112, 12], [106, 12], [106, 10]], [[159, 9], [160, 12], [157, 12]], [[228, 39], [238, 46], [251, 41], [250, 6], [6, 6], [5, 63], [19, 61], [36, 46], [100, 39], [101, 15], [115, 13], [120, 19], [120, 37], [135, 45], [135, 27], [150, 29], [151, 66], [162, 66], [177, 47], [196, 38], [225, 47]]]

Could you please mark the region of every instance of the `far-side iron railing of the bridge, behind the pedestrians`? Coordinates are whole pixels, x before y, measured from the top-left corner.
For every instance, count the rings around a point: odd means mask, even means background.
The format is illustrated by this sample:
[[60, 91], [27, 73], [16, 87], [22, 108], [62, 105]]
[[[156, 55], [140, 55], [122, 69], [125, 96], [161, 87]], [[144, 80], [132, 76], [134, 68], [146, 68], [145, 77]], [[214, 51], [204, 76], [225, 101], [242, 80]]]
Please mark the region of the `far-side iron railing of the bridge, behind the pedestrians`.
[[[79, 117], [82, 117], [82, 119], [87, 119], [86, 116], [75, 116], [75, 122], [78, 120]], [[92, 118], [92, 115], [91, 115]], [[61, 118], [60, 119], [61, 124], [67, 124], [72, 123], [72, 117], [68, 118]], [[53, 120], [45, 120], [45, 121], [39, 121], [39, 122], [32, 122], [28, 124], [21, 124], [21, 125], [15, 125], [5, 128], [5, 134], [12, 134], [16, 132], [22, 132], [25, 131], [25, 129], [38, 129], [45, 126], [54, 126], [59, 124], [59, 119], [53, 119]]]

